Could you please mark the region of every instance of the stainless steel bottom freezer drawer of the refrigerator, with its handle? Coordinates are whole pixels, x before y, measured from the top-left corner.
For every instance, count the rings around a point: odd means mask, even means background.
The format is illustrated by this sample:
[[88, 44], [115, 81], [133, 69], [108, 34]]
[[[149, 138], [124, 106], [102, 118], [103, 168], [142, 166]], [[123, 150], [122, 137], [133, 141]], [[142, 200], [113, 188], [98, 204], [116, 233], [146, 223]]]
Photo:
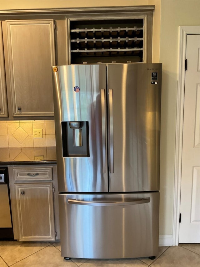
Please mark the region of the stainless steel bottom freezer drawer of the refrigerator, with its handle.
[[59, 194], [63, 257], [111, 259], [158, 254], [159, 192]]

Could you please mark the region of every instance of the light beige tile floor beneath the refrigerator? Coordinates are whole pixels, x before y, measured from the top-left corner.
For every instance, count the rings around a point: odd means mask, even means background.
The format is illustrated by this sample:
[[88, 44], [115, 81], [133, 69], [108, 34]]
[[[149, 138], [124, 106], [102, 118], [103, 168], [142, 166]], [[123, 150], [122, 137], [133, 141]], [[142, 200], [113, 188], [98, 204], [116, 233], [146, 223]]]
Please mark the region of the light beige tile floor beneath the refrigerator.
[[134, 259], [71, 259], [64, 260], [60, 243], [0, 241], [0, 267], [199, 267], [199, 244], [159, 247], [155, 260]]

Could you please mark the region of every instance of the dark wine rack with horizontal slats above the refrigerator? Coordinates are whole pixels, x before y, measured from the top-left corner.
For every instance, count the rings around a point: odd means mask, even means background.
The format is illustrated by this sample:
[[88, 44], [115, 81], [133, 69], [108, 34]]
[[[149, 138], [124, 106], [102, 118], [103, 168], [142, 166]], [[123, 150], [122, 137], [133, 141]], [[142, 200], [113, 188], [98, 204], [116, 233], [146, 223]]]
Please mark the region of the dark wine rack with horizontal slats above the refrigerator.
[[70, 21], [71, 64], [144, 60], [144, 19]]

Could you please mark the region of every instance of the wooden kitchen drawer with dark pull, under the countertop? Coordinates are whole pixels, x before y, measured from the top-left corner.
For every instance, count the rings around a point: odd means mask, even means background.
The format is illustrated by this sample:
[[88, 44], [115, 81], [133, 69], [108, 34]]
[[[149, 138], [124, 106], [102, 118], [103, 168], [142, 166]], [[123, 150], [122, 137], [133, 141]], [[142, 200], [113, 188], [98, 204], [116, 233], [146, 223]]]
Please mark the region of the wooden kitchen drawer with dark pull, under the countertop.
[[14, 167], [14, 181], [51, 181], [53, 180], [52, 167]]

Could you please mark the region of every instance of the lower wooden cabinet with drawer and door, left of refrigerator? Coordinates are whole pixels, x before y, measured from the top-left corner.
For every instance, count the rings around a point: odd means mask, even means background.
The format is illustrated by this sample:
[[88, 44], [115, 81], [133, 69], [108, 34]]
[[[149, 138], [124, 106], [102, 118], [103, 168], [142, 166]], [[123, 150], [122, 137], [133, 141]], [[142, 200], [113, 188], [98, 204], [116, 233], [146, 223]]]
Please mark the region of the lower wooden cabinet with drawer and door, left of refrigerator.
[[55, 166], [8, 166], [14, 239], [60, 239]]

